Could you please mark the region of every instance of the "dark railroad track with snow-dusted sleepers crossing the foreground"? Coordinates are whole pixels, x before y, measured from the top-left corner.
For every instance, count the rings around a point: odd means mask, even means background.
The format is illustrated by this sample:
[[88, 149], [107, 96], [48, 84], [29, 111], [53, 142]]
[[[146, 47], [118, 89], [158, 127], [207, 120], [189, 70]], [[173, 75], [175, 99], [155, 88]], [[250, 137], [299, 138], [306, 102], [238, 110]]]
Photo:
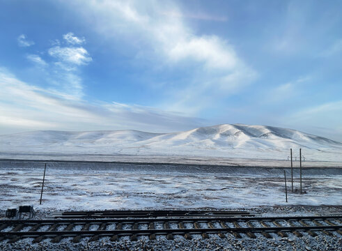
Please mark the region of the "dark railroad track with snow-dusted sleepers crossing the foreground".
[[77, 243], [81, 238], [97, 241], [104, 236], [109, 236], [110, 241], [118, 241], [123, 236], [129, 236], [130, 241], [137, 241], [139, 236], [147, 236], [150, 240], [165, 236], [172, 240], [176, 235], [191, 239], [194, 234], [200, 234], [202, 238], [208, 238], [209, 234], [217, 234], [221, 238], [228, 234], [235, 238], [301, 237], [304, 234], [342, 236], [342, 215], [0, 220], [0, 241], [7, 240], [8, 243], [15, 243], [21, 238], [33, 238], [33, 243], [49, 238], [53, 243], [59, 243], [68, 237]]

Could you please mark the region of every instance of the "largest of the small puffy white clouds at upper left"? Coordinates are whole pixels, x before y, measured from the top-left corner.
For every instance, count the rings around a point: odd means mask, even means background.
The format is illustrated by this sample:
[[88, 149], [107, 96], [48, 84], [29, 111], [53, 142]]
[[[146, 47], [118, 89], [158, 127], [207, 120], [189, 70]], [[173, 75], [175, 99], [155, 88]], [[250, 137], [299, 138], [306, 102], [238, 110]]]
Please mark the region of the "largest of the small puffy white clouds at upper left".
[[84, 47], [55, 46], [49, 49], [49, 55], [65, 63], [72, 63], [78, 66], [86, 65], [93, 60]]

